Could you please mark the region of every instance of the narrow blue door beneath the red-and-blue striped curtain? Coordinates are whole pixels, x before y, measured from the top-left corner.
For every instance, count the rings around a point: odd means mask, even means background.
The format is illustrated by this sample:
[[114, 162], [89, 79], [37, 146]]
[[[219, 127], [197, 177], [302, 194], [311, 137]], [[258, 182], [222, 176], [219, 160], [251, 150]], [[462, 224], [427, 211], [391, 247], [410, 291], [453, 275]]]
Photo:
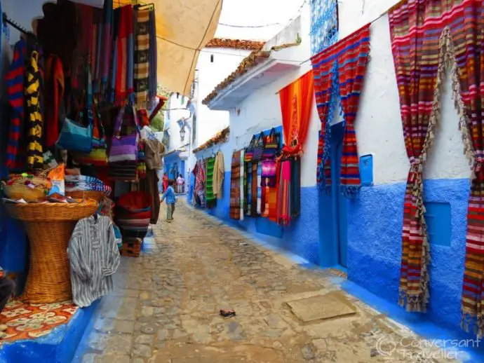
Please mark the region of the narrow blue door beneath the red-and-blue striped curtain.
[[347, 200], [342, 195], [341, 189], [341, 157], [343, 149], [344, 124], [337, 123], [331, 127], [331, 180], [332, 180], [332, 221], [333, 221], [333, 245], [337, 250], [337, 264], [347, 267]]

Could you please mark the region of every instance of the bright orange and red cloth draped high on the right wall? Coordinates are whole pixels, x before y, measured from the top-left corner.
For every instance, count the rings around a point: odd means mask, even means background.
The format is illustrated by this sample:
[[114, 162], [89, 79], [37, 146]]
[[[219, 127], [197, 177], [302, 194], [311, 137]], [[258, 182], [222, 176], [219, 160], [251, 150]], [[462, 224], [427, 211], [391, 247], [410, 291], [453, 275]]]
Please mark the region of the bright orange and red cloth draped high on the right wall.
[[283, 156], [300, 155], [304, 152], [313, 109], [314, 77], [307, 72], [279, 92], [283, 116]]

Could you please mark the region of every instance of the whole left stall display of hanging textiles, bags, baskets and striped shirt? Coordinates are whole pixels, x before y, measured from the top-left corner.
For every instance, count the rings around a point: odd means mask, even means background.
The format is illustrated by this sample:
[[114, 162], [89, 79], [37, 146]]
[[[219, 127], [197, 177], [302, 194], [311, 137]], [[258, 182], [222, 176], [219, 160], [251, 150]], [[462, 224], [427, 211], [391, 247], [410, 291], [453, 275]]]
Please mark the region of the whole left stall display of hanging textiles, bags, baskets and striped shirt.
[[[21, 299], [57, 303], [74, 294], [77, 306], [89, 306], [112, 289], [118, 243], [141, 245], [159, 217], [156, 170], [165, 148], [149, 130], [148, 111], [156, 99], [156, 19], [153, 6], [113, 9], [112, 0], [104, 8], [58, 1], [43, 11], [36, 36], [15, 44], [5, 76], [4, 203], [29, 237]], [[142, 208], [123, 208], [114, 181], [145, 191]]]

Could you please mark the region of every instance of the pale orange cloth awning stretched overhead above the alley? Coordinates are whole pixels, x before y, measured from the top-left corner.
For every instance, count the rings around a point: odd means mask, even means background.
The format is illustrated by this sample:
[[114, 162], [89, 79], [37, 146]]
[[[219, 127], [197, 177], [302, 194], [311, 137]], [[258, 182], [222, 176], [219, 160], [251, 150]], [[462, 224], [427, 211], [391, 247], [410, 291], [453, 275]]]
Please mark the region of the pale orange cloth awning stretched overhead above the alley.
[[[114, 0], [114, 6], [133, 4]], [[190, 95], [200, 50], [213, 39], [222, 0], [150, 0], [156, 13], [158, 83], [172, 92]], [[142, 1], [139, 1], [142, 4]]]

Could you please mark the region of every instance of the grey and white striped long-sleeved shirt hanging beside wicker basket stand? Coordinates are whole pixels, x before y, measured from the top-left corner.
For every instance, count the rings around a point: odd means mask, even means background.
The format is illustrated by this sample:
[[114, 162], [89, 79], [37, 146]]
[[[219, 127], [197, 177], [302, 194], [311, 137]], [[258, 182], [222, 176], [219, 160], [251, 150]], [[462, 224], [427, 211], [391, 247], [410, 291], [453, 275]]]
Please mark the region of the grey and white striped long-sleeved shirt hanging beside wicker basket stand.
[[77, 222], [67, 254], [71, 264], [72, 300], [85, 308], [107, 295], [120, 257], [112, 221], [91, 216]]

